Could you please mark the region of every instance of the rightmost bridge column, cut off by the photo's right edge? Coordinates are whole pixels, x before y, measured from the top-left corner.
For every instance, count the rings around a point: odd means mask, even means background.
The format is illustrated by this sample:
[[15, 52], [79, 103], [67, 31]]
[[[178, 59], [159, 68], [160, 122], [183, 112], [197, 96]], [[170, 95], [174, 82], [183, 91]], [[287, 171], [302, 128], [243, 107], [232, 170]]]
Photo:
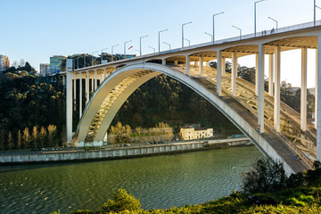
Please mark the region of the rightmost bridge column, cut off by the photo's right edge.
[[[317, 50], [321, 49], [321, 35], [317, 37]], [[317, 100], [321, 100], [321, 52], [317, 52]], [[321, 105], [317, 105], [317, 161], [321, 161]]]

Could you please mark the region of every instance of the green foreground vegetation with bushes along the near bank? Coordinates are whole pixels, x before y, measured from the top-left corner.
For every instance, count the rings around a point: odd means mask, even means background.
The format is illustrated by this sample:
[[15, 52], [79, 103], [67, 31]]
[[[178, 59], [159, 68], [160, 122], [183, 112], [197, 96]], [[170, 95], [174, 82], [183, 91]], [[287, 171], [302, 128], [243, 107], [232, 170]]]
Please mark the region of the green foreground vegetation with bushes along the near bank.
[[243, 174], [243, 192], [234, 192], [219, 200], [165, 210], [143, 210], [139, 200], [119, 189], [114, 199], [104, 203], [100, 210], [77, 210], [71, 214], [321, 213], [321, 168], [317, 161], [315, 168], [286, 177], [280, 162], [259, 160]]

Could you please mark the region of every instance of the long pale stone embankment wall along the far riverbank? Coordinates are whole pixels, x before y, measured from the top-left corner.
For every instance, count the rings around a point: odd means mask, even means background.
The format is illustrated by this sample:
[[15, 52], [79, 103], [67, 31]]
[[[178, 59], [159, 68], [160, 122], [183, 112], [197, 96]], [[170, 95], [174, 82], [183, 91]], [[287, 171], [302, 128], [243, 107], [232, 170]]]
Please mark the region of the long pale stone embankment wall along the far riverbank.
[[249, 138], [242, 137], [220, 140], [189, 141], [183, 143], [100, 148], [98, 150], [4, 153], [0, 156], [0, 165], [128, 159], [159, 154], [226, 148], [229, 146], [247, 144], [251, 144]]

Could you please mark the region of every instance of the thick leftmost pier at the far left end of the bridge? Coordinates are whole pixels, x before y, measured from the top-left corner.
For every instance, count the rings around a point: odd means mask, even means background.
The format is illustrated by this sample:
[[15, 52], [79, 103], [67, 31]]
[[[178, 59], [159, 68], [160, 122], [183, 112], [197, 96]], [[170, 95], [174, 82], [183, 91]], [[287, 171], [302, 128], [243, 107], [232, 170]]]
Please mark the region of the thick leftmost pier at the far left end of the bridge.
[[66, 132], [67, 132], [67, 143], [72, 141], [72, 78], [75, 74], [72, 70], [72, 59], [67, 59], [66, 63]]

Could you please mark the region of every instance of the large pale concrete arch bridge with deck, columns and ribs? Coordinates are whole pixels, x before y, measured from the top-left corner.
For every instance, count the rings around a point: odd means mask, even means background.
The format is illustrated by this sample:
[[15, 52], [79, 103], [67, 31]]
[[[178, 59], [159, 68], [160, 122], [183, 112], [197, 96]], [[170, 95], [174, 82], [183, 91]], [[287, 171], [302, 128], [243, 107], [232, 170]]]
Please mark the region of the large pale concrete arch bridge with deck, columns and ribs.
[[[230, 119], [264, 155], [284, 162], [287, 173], [312, 168], [321, 156], [321, 78], [316, 78], [314, 124], [307, 120], [308, 49], [316, 50], [321, 64], [321, 21], [278, 29], [277, 33], [227, 38], [65, 72], [67, 140], [79, 146], [102, 144], [111, 121], [128, 96], [146, 81], [161, 74], [192, 88]], [[280, 101], [281, 53], [300, 49], [300, 112]], [[255, 55], [255, 84], [237, 77], [237, 59]], [[265, 55], [268, 54], [268, 62]], [[232, 71], [226, 72], [226, 59]], [[217, 62], [217, 69], [209, 66]], [[264, 69], [268, 63], [268, 92], [264, 91]], [[64, 76], [63, 76], [64, 77]], [[317, 66], [316, 77], [321, 77]], [[72, 133], [74, 102], [79, 122]]]

